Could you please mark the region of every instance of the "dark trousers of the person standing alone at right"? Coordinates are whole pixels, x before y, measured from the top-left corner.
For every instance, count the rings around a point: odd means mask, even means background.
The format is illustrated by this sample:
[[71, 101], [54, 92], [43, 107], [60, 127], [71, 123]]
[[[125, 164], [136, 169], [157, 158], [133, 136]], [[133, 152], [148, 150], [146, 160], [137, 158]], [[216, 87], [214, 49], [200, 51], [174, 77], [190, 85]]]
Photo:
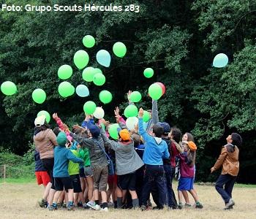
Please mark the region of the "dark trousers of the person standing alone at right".
[[[236, 182], [236, 177], [230, 174], [221, 174], [216, 182], [215, 188], [222, 196], [222, 199], [227, 203], [232, 198], [232, 190]], [[223, 188], [224, 186], [224, 188]]]

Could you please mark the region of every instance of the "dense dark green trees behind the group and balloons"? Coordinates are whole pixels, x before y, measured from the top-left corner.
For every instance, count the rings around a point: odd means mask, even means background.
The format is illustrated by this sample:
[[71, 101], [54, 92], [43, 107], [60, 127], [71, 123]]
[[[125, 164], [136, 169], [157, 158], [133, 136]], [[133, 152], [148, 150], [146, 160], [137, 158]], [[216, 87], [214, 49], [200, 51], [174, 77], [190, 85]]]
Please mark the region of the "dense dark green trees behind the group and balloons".
[[[33, 4], [83, 5], [84, 1], [31, 1]], [[28, 1], [0, 3], [25, 5]], [[86, 1], [86, 3], [88, 3]], [[110, 1], [93, 1], [108, 5]], [[130, 1], [116, 0], [126, 5]], [[159, 100], [160, 120], [195, 135], [197, 180], [209, 181], [209, 169], [225, 137], [233, 131], [244, 138], [241, 147], [241, 172], [238, 181], [255, 183], [256, 126], [256, 3], [252, 0], [219, 1], [132, 1], [140, 12], [0, 12], [0, 82], [18, 85], [14, 96], [0, 95], [0, 145], [17, 154], [26, 153], [39, 110], [59, 112], [72, 123], [83, 120], [83, 104], [94, 100], [102, 89], [113, 93], [104, 105], [113, 120], [114, 107], [127, 103], [127, 91], [143, 93], [138, 107], [151, 107], [147, 88], [163, 82], [167, 88]], [[106, 83], [97, 87], [84, 82], [72, 61], [84, 49], [82, 39], [91, 34], [97, 45], [86, 50], [89, 66], [98, 66]], [[112, 50], [114, 42], [127, 45], [124, 58], [112, 57], [110, 68], [97, 64], [98, 50]], [[225, 53], [230, 63], [223, 69], [211, 66], [214, 55]], [[75, 69], [69, 82], [89, 86], [91, 95], [59, 96], [57, 71], [62, 64]], [[154, 77], [143, 77], [152, 67]], [[42, 88], [44, 104], [35, 104], [31, 93]], [[53, 124], [54, 126], [54, 124]]]

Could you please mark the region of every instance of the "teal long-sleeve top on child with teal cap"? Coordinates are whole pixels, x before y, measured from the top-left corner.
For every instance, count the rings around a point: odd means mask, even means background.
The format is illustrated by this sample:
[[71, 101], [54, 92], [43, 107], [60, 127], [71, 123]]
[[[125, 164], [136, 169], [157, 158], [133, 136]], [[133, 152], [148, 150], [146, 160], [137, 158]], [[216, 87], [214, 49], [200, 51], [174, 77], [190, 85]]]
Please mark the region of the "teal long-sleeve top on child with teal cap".
[[54, 148], [53, 177], [69, 177], [69, 160], [73, 161], [74, 163], [83, 164], [83, 160], [77, 158], [66, 147], [57, 146]]

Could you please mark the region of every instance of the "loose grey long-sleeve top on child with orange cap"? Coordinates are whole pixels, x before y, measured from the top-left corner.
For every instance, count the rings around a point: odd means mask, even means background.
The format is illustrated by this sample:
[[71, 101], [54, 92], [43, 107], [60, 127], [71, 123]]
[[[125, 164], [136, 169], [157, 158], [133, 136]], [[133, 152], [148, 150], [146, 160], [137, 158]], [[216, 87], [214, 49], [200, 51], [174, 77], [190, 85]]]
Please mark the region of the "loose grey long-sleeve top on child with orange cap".
[[105, 132], [102, 132], [102, 139], [105, 145], [115, 150], [116, 153], [116, 174], [123, 175], [135, 172], [144, 165], [139, 155], [135, 152], [134, 142], [115, 142], [106, 136]]

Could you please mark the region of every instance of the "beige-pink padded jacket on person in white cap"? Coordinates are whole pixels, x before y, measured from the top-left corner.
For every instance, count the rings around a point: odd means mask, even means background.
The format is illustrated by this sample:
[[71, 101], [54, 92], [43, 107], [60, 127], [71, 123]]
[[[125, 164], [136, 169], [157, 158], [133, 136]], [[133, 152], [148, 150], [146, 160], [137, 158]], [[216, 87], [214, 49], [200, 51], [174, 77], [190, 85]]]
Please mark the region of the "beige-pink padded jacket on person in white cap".
[[53, 147], [58, 145], [53, 130], [47, 128], [45, 131], [39, 131], [33, 139], [41, 159], [53, 158]]

